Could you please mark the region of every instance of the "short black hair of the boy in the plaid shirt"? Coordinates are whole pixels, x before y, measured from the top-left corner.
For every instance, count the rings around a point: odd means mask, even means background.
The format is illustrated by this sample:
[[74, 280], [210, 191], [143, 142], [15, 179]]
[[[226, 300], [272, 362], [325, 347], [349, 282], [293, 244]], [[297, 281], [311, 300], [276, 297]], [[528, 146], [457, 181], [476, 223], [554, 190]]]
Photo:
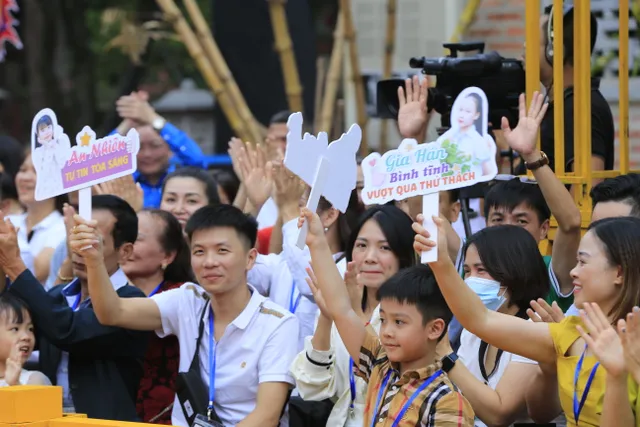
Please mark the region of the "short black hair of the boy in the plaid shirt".
[[424, 264], [398, 271], [380, 286], [376, 296], [378, 301], [390, 299], [400, 304], [415, 305], [422, 315], [423, 325], [434, 319], [442, 319], [445, 325], [449, 325], [453, 317], [436, 277]]

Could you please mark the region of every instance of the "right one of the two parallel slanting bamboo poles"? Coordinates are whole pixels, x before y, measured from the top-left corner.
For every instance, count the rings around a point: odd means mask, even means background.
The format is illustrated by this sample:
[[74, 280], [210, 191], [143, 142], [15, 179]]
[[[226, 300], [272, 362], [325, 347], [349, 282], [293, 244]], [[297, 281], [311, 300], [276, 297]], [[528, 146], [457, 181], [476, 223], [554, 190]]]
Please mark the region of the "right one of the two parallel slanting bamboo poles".
[[202, 16], [200, 7], [195, 0], [184, 0], [184, 5], [187, 9], [187, 13], [189, 13], [189, 17], [191, 17], [191, 21], [193, 21], [197, 37], [204, 48], [204, 53], [207, 55], [209, 62], [211, 62], [215, 71], [220, 76], [222, 83], [228, 88], [229, 95], [236, 107], [236, 110], [238, 111], [238, 114], [240, 115], [240, 119], [249, 128], [249, 133], [251, 135], [250, 141], [255, 143], [262, 142], [266, 131], [263, 132], [257, 120], [253, 117], [244, 96], [242, 96], [242, 92], [240, 91], [238, 84], [233, 78], [233, 74], [231, 74], [231, 70], [229, 70], [229, 67], [227, 66], [224, 56], [222, 56], [222, 52], [220, 52], [218, 44], [213, 39], [209, 25]]

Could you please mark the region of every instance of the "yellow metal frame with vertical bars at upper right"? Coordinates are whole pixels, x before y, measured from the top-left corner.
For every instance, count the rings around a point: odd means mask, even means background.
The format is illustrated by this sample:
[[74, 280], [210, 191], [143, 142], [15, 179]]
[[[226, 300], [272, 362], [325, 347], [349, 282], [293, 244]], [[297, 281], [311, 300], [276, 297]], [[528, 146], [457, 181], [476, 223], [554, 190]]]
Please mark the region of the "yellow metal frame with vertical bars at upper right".
[[[565, 170], [564, 153], [564, 85], [563, 85], [563, 1], [553, 2], [553, 101], [554, 101], [554, 157], [555, 173], [562, 182], [577, 187], [573, 192], [582, 214], [582, 226], [588, 227], [591, 220], [592, 180], [615, 177], [629, 170], [629, 1], [619, 0], [619, 161], [620, 168], [613, 171], [591, 170], [591, 52], [590, 52], [590, 8], [589, 1], [574, 3], [574, 171]], [[533, 92], [540, 90], [540, 1], [525, 2], [525, 60], [527, 66], [527, 102]], [[538, 139], [538, 146], [540, 140]], [[553, 241], [557, 223], [552, 220], [549, 240]], [[543, 252], [550, 252], [549, 242], [541, 244]]]

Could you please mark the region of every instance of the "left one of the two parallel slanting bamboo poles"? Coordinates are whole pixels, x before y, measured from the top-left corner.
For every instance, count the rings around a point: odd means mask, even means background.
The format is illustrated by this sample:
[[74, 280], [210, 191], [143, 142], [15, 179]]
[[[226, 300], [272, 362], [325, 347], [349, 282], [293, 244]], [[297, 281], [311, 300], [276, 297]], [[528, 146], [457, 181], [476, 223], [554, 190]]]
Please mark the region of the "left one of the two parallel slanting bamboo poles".
[[167, 22], [173, 25], [176, 33], [182, 39], [189, 55], [191, 55], [196, 66], [207, 82], [209, 89], [211, 89], [211, 92], [216, 96], [216, 100], [220, 103], [220, 107], [222, 108], [225, 116], [227, 116], [229, 125], [231, 125], [233, 131], [243, 140], [251, 138], [251, 133], [247, 128], [246, 123], [243, 123], [238, 115], [235, 105], [227, 90], [228, 88], [225, 87], [220, 76], [215, 72], [213, 65], [209, 62], [209, 59], [202, 50], [202, 46], [198, 43], [196, 35], [193, 30], [191, 30], [186, 19], [184, 19], [184, 16], [180, 9], [178, 9], [178, 6], [176, 6], [173, 0], [156, 0], [156, 2], [164, 12]]

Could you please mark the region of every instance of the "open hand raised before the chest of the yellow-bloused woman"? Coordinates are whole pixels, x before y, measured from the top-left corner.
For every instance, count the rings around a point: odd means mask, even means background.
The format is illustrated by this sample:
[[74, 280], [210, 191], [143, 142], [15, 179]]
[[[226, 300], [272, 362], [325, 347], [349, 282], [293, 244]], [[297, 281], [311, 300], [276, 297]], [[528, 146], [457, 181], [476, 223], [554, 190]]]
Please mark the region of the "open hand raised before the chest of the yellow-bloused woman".
[[600, 306], [585, 303], [584, 309], [580, 310], [580, 317], [589, 333], [579, 325], [578, 331], [607, 373], [614, 377], [625, 374], [622, 341]]

